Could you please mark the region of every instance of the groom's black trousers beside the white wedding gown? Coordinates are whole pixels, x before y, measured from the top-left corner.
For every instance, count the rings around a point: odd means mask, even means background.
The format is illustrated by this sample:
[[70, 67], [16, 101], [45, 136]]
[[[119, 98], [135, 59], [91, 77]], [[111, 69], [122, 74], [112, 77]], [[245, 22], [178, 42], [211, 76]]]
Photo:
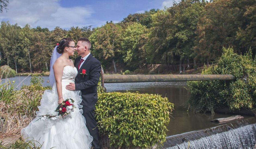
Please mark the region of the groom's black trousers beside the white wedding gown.
[[96, 120], [94, 118], [95, 105], [83, 106], [83, 116], [86, 119], [86, 127], [93, 137], [92, 147], [94, 149], [100, 149], [99, 129], [97, 127]]

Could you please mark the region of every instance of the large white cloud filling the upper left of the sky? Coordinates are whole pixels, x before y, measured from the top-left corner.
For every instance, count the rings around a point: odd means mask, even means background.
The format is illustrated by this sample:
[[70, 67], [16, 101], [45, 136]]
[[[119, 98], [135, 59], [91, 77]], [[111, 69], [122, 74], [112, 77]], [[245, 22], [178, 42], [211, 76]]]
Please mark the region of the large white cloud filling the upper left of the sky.
[[53, 30], [54, 27], [70, 28], [71, 26], [88, 26], [101, 23], [91, 18], [93, 9], [86, 7], [64, 8], [59, 0], [10, 0], [7, 12], [0, 15], [0, 21], [17, 23], [21, 27], [26, 24], [31, 27], [41, 26]]

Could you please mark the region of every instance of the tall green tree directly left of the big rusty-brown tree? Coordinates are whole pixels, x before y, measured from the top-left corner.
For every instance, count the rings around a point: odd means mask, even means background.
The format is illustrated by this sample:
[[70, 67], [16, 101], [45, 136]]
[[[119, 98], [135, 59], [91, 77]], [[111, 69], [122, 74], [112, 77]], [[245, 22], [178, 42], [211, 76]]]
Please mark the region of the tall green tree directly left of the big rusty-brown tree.
[[185, 61], [188, 61], [189, 64], [189, 60], [193, 59], [194, 64], [196, 64], [194, 59], [196, 54], [193, 52], [195, 31], [204, 5], [204, 1], [186, 0], [175, 3], [173, 7], [168, 9], [174, 18], [173, 25], [176, 28], [174, 38], [176, 38], [177, 43], [173, 50], [180, 57], [180, 72], [181, 60], [183, 60], [183, 72], [185, 71]]

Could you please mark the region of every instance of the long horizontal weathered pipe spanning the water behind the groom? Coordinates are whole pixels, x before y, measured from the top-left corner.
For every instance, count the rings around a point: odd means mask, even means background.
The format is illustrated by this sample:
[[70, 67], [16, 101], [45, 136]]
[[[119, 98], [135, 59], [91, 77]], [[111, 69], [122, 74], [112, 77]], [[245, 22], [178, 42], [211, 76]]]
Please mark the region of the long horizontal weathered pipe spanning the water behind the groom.
[[104, 75], [104, 83], [234, 80], [233, 75]]

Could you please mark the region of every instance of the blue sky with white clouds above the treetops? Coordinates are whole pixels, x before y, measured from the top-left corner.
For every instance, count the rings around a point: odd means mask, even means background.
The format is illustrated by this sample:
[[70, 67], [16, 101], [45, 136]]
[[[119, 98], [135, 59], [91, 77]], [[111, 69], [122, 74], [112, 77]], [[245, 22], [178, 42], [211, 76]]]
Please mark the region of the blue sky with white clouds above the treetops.
[[171, 7], [173, 0], [9, 0], [0, 21], [29, 24], [53, 30], [78, 26], [100, 27], [106, 21], [120, 22], [129, 14]]

